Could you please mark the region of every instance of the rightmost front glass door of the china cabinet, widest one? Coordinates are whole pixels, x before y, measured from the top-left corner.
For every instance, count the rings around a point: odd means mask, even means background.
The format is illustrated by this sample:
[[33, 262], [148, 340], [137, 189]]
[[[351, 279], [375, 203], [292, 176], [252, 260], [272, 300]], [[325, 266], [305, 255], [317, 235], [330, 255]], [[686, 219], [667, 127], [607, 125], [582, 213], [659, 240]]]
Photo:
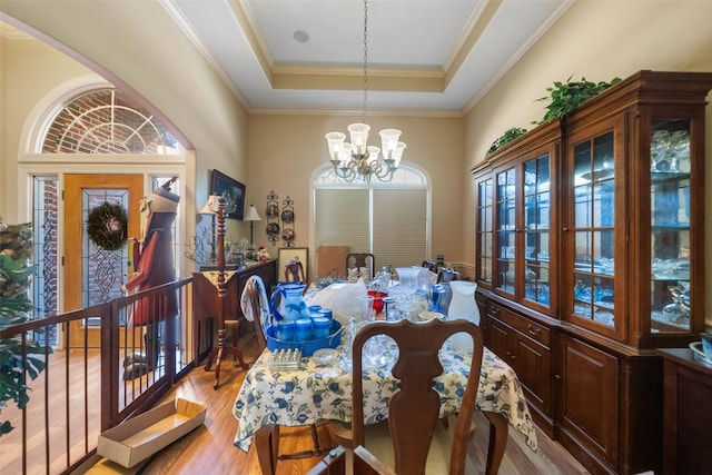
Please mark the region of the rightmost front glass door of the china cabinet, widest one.
[[[606, 327], [614, 313], [615, 168], [613, 131], [573, 148], [573, 314]], [[622, 239], [624, 239], [622, 237]]]

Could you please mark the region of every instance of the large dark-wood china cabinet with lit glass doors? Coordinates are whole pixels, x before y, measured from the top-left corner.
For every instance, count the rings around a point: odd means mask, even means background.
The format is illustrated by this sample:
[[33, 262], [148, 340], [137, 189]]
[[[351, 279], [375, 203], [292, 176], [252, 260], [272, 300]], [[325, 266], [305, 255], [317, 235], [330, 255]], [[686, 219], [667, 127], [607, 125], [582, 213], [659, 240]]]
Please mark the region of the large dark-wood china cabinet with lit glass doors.
[[486, 344], [594, 473], [660, 472], [655, 348], [704, 329], [711, 88], [640, 71], [471, 170]]

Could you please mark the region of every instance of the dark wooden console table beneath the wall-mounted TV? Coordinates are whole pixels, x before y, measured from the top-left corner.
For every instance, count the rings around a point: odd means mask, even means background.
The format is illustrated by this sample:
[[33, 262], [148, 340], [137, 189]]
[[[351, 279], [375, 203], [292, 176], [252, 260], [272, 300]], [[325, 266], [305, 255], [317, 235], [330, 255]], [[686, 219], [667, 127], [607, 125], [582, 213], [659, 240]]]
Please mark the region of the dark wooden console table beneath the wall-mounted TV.
[[[208, 270], [192, 273], [192, 335], [195, 336], [195, 355], [201, 360], [212, 349], [212, 328], [218, 318], [217, 271]], [[225, 273], [225, 315], [226, 320], [244, 318], [239, 301], [247, 279], [251, 276], [261, 277], [267, 291], [277, 284], [277, 260], [244, 267], [239, 270]], [[238, 325], [239, 327], [239, 325]], [[207, 335], [207, 337], [206, 337]], [[235, 339], [238, 335], [236, 330]], [[206, 340], [205, 343], [202, 340]], [[235, 342], [237, 344], [237, 342]]]

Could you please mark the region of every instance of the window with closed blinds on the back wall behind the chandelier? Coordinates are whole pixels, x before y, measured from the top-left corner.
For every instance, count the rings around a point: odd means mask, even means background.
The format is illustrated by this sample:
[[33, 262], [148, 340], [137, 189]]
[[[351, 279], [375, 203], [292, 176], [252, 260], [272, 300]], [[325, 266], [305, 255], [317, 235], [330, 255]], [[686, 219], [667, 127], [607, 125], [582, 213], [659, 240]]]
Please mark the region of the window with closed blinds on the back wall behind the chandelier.
[[313, 186], [317, 261], [319, 246], [372, 253], [378, 268], [419, 265], [429, 256], [431, 190], [425, 172], [402, 164], [387, 184], [346, 182], [328, 167]]

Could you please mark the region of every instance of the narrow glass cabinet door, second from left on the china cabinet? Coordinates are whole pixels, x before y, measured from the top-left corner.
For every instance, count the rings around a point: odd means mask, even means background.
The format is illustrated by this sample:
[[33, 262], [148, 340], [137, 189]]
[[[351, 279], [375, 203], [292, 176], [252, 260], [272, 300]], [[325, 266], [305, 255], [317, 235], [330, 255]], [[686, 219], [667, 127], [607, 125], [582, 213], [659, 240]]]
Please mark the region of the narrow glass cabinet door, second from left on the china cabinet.
[[510, 168], [496, 175], [495, 200], [497, 259], [495, 287], [514, 295], [516, 250], [516, 169]]

